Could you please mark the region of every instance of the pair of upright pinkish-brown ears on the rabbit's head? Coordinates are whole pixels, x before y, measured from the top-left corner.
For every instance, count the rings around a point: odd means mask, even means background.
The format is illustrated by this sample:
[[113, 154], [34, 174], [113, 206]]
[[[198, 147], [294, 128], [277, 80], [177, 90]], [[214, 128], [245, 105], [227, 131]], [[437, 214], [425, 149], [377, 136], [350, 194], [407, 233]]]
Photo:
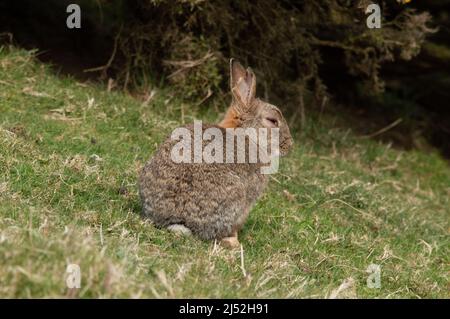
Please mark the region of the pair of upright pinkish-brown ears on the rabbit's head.
[[249, 110], [256, 94], [256, 76], [252, 69], [244, 67], [233, 59], [230, 60], [230, 86], [233, 99], [237, 102], [237, 111]]

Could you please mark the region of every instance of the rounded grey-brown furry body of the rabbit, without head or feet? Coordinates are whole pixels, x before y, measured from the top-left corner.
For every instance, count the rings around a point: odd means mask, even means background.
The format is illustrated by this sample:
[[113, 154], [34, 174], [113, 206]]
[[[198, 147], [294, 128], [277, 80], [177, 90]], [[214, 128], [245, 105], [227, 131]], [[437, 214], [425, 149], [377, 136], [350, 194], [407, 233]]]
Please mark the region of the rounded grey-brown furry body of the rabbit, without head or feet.
[[[193, 133], [192, 126], [186, 128]], [[176, 143], [167, 139], [141, 172], [144, 215], [161, 227], [182, 224], [204, 239], [231, 236], [262, 194], [266, 176], [249, 163], [176, 163]]]

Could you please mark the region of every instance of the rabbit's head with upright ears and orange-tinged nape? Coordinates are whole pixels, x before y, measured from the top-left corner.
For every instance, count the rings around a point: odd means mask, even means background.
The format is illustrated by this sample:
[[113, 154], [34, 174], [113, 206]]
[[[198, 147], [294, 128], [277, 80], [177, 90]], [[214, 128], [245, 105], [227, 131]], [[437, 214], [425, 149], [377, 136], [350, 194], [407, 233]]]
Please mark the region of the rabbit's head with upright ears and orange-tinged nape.
[[292, 148], [292, 136], [281, 111], [272, 104], [258, 99], [256, 76], [251, 68], [245, 69], [239, 62], [230, 60], [231, 106], [220, 123], [222, 127], [278, 128], [281, 155]]

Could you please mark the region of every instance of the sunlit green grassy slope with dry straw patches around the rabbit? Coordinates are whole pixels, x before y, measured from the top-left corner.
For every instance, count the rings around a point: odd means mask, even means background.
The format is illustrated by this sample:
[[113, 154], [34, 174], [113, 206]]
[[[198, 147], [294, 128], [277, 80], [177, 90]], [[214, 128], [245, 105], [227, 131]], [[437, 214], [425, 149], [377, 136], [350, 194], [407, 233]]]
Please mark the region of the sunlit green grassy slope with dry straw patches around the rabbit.
[[[293, 131], [242, 250], [224, 250], [139, 214], [136, 176], [158, 143], [220, 116], [163, 89], [149, 96], [0, 48], [0, 297], [450, 297], [450, 169], [438, 154], [310, 120]], [[80, 289], [66, 286], [68, 264], [80, 266]], [[378, 289], [366, 284], [370, 264]]]

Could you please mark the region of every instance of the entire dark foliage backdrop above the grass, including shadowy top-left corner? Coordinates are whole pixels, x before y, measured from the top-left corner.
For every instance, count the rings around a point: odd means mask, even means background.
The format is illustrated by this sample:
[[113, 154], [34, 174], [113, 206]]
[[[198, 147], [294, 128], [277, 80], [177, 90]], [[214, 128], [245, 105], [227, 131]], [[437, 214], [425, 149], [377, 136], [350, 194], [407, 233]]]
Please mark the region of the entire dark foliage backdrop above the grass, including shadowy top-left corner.
[[[384, 89], [381, 67], [416, 56], [434, 31], [423, 9], [395, 0], [378, 1], [381, 29], [366, 25], [369, 0], [78, 0], [83, 27], [71, 32], [61, 19], [71, 2], [0, 4], [0, 18], [17, 39], [44, 51], [58, 52], [65, 41], [66, 54], [92, 57], [91, 71], [122, 87], [167, 80], [174, 94], [196, 103], [227, 91], [230, 57], [253, 67], [260, 95], [274, 102], [322, 103], [336, 72], [338, 82], [347, 74], [374, 95]], [[21, 19], [34, 27], [18, 25]], [[338, 93], [351, 92], [351, 83]]]

